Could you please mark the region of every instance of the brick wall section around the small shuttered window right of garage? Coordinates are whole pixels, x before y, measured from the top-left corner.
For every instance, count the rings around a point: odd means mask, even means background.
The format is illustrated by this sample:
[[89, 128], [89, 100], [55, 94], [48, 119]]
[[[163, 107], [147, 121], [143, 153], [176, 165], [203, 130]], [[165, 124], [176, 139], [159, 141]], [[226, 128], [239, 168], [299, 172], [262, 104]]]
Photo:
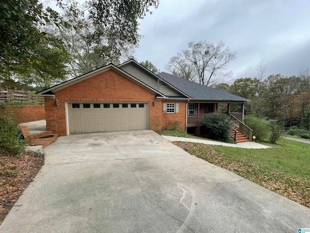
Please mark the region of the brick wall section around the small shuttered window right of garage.
[[[185, 131], [186, 129], [186, 102], [187, 101], [175, 101], [175, 100], [163, 100], [162, 103], [179, 103], [179, 113], [163, 113], [162, 112], [162, 127], [172, 129], [177, 126], [178, 130]], [[162, 108], [162, 107], [161, 107]], [[177, 121], [177, 124], [174, 122]]]

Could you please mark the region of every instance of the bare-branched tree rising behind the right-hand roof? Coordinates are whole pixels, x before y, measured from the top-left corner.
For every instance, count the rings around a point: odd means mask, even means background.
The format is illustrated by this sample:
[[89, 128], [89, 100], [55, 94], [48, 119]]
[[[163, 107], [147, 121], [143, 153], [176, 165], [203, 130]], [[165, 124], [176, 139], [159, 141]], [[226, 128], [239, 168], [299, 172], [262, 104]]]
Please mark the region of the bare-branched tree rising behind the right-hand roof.
[[[232, 62], [236, 55], [237, 52], [225, 47], [222, 41], [217, 45], [206, 40], [190, 42], [188, 48], [173, 56], [165, 68], [171, 73], [180, 73], [182, 78], [211, 85], [215, 75]], [[188, 77], [188, 74], [192, 77]]]

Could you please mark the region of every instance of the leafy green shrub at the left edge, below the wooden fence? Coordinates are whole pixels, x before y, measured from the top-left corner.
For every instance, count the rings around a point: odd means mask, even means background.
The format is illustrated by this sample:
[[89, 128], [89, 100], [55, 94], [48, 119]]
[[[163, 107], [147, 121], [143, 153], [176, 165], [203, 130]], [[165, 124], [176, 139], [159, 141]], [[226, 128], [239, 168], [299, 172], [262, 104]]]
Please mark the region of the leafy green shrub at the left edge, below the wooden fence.
[[0, 145], [15, 155], [24, 149], [23, 134], [16, 121], [11, 117], [9, 109], [0, 113]]

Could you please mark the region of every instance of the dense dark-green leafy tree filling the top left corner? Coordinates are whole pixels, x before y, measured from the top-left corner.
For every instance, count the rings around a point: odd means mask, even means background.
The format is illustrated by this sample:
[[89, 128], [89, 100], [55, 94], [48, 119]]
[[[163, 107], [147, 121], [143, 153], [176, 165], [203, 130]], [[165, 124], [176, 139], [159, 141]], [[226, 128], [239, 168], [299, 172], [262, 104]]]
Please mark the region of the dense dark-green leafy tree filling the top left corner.
[[56, 11], [38, 0], [2, 0], [0, 4], [0, 78], [39, 74], [45, 80], [66, 76], [66, 49], [41, 27], [62, 23]]

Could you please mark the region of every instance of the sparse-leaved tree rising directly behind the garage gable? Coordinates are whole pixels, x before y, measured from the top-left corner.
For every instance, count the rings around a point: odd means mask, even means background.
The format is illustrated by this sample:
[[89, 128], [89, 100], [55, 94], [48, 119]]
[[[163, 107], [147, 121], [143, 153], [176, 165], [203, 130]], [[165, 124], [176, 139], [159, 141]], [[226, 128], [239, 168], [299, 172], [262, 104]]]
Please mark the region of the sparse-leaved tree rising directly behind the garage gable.
[[[68, 24], [75, 20], [72, 12], [68, 10], [62, 17]], [[91, 20], [88, 17], [84, 17], [84, 20], [89, 25], [87, 30], [91, 28], [94, 30]], [[85, 74], [110, 62], [120, 64], [122, 61], [127, 61], [134, 50], [134, 46], [129, 44], [120, 48], [110, 48], [104, 35], [102, 41], [97, 43], [88, 39], [88, 31], [85, 28], [76, 28], [72, 25], [60, 28], [47, 25], [46, 30], [57, 35], [67, 45], [71, 58], [68, 62], [69, 74], [72, 77]]]

